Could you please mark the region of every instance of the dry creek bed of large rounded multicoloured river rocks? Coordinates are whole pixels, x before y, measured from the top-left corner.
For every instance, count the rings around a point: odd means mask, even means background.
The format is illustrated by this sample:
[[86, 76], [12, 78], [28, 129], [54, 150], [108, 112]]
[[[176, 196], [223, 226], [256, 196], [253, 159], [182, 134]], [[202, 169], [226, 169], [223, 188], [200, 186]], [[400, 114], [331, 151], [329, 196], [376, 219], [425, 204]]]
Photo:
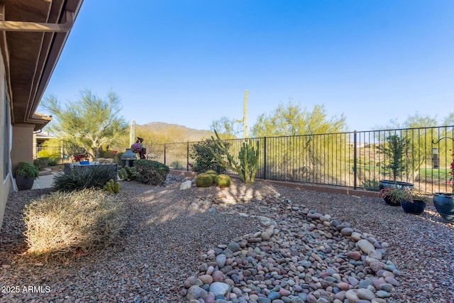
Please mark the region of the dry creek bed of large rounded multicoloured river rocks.
[[[271, 217], [227, 212], [253, 216], [263, 227], [202, 255], [199, 275], [184, 281], [189, 302], [387, 302], [400, 285], [399, 270], [386, 260], [388, 243], [279, 196], [248, 201]], [[222, 211], [235, 204], [220, 198], [191, 205]]]

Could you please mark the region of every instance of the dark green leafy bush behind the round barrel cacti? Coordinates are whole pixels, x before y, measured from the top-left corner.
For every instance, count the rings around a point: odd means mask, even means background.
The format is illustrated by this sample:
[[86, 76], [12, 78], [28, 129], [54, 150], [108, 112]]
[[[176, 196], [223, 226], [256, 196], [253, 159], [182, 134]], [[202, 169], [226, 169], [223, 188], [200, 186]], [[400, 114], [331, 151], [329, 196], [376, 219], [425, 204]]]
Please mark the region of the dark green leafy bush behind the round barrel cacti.
[[[225, 145], [228, 147], [228, 143], [225, 143]], [[204, 172], [206, 170], [214, 170], [218, 174], [226, 172], [226, 167], [221, 165], [211, 150], [214, 150], [219, 155], [224, 155], [223, 150], [218, 148], [213, 139], [206, 139], [191, 146], [190, 156], [194, 162], [189, 165], [194, 172]]]

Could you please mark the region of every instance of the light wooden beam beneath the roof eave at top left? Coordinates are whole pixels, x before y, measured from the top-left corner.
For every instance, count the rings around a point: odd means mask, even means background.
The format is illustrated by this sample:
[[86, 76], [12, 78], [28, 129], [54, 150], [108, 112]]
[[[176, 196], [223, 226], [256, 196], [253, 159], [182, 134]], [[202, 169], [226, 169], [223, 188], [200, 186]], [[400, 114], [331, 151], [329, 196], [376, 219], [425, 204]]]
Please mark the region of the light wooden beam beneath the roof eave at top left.
[[[74, 13], [66, 11], [65, 23], [39, 23], [24, 21], [0, 21], [0, 31], [21, 31], [21, 32], [52, 32], [66, 33], [71, 30], [74, 23]], [[3, 16], [5, 16], [3, 14]]]

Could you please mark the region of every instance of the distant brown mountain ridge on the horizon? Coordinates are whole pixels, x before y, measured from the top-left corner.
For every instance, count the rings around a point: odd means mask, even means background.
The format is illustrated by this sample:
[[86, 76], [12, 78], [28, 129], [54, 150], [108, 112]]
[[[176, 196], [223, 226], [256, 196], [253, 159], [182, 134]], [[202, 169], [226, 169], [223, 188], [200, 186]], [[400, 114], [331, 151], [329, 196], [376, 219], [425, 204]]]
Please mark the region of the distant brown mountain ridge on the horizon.
[[181, 138], [181, 141], [201, 141], [214, 136], [214, 132], [212, 131], [187, 128], [186, 126], [165, 122], [150, 122], [144, 125], [138, 125], [138, 127], [145, 128], [145, 130], [153, 133], [162, 133], [167, 136], [174, 135], [176, 139]]

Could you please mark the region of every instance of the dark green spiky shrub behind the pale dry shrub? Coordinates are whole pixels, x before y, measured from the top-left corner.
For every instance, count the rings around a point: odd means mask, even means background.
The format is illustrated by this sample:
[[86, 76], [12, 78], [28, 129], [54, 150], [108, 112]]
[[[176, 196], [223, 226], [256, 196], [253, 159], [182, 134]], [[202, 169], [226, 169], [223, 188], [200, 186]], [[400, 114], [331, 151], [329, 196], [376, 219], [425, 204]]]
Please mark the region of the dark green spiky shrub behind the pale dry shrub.
[[111, 165], [87, 165], [65, 167], [64, 173], [55, 175], [53, 187], [70, 192], [73, 190], [102, 189], [112, 177]]

